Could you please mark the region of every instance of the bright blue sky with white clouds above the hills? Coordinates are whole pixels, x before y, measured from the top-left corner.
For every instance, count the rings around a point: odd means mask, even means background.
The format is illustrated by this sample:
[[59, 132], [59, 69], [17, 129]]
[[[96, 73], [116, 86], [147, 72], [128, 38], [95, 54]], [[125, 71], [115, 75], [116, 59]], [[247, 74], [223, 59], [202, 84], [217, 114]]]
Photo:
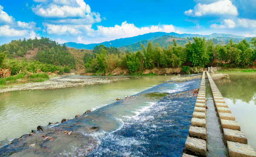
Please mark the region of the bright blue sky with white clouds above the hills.
[[99, 43], [150, 32], [256, 36], [256, 0], [1, 0], [0, 44]]

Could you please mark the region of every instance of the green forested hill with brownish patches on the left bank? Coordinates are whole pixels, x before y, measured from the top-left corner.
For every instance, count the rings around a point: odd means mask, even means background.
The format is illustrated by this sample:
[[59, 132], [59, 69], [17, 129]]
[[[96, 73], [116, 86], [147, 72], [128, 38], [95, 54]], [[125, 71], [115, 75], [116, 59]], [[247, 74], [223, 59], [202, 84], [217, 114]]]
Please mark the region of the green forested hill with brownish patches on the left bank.
[[[69, 72], [76, 59], [71, 48], [49, 38], [14, 40], [0, 45], [0, 69], [10, 69], [11, 75], [21, 72]], [[83, 53], [84, 54], [84, 53]], [[82, 63], [83, 64], [83, 63]]]

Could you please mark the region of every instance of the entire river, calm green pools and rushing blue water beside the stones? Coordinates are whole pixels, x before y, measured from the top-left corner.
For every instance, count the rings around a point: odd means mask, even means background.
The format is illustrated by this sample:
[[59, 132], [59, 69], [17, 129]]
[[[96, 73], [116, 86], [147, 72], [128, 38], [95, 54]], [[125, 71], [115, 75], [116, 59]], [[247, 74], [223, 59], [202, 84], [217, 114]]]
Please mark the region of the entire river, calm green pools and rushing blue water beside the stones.
[[[229, 75], [230, 79], [215, 80], [215, 83], [241, 125], [241, 130], [246, 134], [248, 143], [255, 148], [256, 74]], [[196, 100], [196, 97], [187, 95], [187, 92], [198, 87], [200, 79], [163, 83], [170, 77], [129, 78], [131, 79], [86, 87], [2, 93], [0, 138], [11, 140], [31, 132], [31, 129], [36, 129], [39, 124], [46, 126], [48, 122], [55, 123], [60, 122], [62, 118], [74, 118], [75, 115], [82, 115], [87, 109], [92, 109], [95, 111], [89, 116], [79, 117], [81, 126], [74, 121], [68, 121], [68, 125], [73, 128], [72, 131], [81, 135], [75, 144], [72, 143], [72, 139], [67, 139], [65, 143], [48, 146], [47, 149], [51, 150], [49, 154], [45, 154], [43, 150], [37, 150], [37, 154], [180, 157], [188, 136]], [[124, 99], [125, 95], [133, 96]], [[116, 101], [116, 98], [121, 100]], [[82, 119], [85, 119], [85, 123], [82, 123]], [[62, 124], [58, 128], [68, 129], [64, 123]], [[100, 131], [87, 131], [87, 124], [99, 126]], [[85, 142], [83, 138], [92, 142], [91, 147], [81, 149], [81, 143]], [[57, 142], [58, 136], [55, 139]], [[66, 145], [68, 147], [65, 147]], [[28, 149], [17, 156], [25, 154], [35, 155]]]

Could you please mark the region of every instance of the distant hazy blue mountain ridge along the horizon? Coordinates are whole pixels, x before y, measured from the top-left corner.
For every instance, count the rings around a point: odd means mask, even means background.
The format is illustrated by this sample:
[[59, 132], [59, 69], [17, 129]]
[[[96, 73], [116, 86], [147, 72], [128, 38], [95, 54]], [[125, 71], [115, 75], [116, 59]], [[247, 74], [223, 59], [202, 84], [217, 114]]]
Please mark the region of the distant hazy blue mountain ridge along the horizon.
[[178, 34], [175, 32], [171, 32], [171, 33], [165, 33], [165, 32], [155, 32], [155, 33], [147, 33], [147, 34], [143, 34], [143, 35], [138, 35], [135, 37], [130, 37], [130, 38], [120, 38], [120, 39], [116, 39], [113, 41], [105, 41], [102, 43], [98, 43], [98, 44], [78, 44], [75, 42], [67, 42], [65, 43], [65, 45], [67, 47], [70, 48], [76, 48], [76, 49], [89, 49], [92, 50], [96, 45], [104, 45], [106, 47], [123, 47], [126, 45], [130, 45], [133, 43], [136, 43], [138, 41], [143, 41], [143, 40], [150, 40], [150, 39], [154, 39], [154, 38], [160, 38], [163, 36], [174, 36], [174, 37], [178, 37], [178, 38], [191, 38], [191, 37], [205, 37], [206, 39], [212, 39], [212, 38], [217, 38], [218, 40], [229, 40], [229, 39], [236, 39], [236, 40], [242, 40], [245, 39], [246, 37], [240, 36], [240, 35], [233, 35], [233, 34], [218, 34], [218, 33], [213, 33], [210, 35], [200, 35], [200, 34]]

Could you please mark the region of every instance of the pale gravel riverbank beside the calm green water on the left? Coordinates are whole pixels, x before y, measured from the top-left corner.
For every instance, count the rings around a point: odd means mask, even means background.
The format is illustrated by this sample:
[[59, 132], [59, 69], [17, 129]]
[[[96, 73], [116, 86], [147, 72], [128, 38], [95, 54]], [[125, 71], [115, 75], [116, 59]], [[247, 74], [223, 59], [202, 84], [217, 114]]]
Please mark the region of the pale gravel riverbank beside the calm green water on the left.
[[99, 78], [99, 77], [80, 77], [77, 75], [73, 76], [57, 76], [52, 77], [44, 82], [31, 82], [21, 85], [14, 85], [10, 87], [0, 88], [0, 93], [18, 91], [18, 90], [35, 90], [35, 89], [59, 89], [75, 86], [94, 85], [102, 83], [111, 83], [120, 79], [129, 78]]

